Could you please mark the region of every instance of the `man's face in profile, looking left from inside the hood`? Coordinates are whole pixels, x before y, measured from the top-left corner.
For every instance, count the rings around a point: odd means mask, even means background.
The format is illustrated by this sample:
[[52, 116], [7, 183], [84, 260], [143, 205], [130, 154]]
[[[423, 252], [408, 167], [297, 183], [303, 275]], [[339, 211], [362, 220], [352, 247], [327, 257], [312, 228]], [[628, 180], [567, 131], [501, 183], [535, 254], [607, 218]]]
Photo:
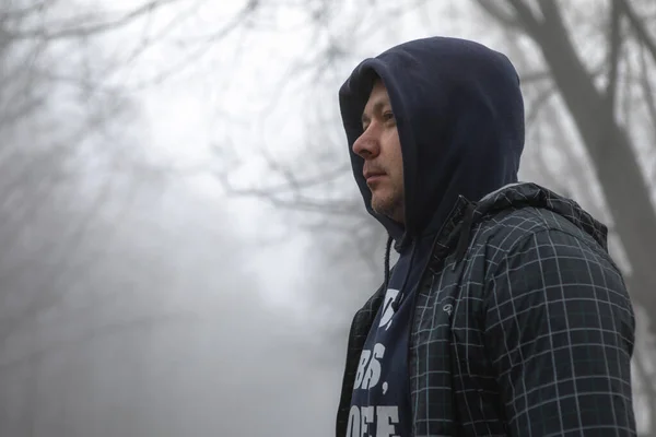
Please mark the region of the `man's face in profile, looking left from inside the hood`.
[[362, 113], [364, 132], [353, 152], [364, 160], [364, 177], [372, 191], [372, 209], [405, 222], [403, 160], [396, 118], [383, 81], [374, 84]]

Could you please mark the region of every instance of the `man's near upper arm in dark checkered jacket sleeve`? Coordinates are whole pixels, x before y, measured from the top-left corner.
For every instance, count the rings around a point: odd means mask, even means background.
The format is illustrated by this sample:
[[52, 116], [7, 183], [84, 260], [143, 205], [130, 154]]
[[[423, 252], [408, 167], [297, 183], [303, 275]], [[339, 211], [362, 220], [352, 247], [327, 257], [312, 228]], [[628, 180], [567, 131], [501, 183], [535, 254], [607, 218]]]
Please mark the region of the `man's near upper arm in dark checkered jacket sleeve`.
[[527, 235], [488, 281], [487, 351], [512, 436], [634, 436], [635, 320], [600, 248]]

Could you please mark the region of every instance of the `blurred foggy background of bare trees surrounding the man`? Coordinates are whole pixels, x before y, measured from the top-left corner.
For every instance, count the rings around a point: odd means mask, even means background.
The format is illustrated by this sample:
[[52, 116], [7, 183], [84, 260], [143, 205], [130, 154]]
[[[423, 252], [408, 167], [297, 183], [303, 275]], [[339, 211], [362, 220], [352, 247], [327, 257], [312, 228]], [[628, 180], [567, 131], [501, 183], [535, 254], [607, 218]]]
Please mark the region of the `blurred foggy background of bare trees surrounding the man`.
[[3, 0], [0, 436], [332, 436], [385, 240], [337, 91], [433, 35], [512, 59], [522, 179], [608, 224], [656, 436], [653, 0]]

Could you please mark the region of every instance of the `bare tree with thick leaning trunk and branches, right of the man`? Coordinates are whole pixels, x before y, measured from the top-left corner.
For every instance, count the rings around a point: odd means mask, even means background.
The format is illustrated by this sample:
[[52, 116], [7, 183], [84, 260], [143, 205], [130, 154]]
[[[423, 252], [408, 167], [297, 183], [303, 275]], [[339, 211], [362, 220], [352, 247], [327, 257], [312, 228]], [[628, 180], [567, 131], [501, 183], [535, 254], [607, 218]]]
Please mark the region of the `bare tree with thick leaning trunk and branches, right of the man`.
[[[652, 92], [656, 35], [648, 31], [653, 28], [653, 11], [648, 10], [653, 3], [597, 3], [590, 13], [601, 13], [600, 23], [574, 7], [565, 9], [559, 1], [477, 3], [509, 29], [509, 40], [518, 34], [527, 35], [540, 50], [549, 70], [548, 82], [562, 99], [551, 105], [565, 109], [561, 114], [567, 114], [574, 122], [610, 212], [612, 231], [625, 250], [631, 294], [646, 314], [656, 314], [656, 273], [652, 267], [656, 247], [655, 179], [653, 169], [641, 165], [656, 153], [656, 97]], [[582, 17], [591, 23], [582, 22]], [[591, 64], [590, 57], [586, 59], [575, 42], [573, 26], [582, 23], [590, 27], [591, 38], [607, 50], [600, 68]], [[560, 149], [566, 153], [571, 142]], [[653, 339], [655, 332], [655, 327], [651, 327], [644, 334]], [[643, 363], [641, 354], [653, 353], [656, 345], [648, 346], [637, 352], [637, 364]], [[637, 368], [653, 393], [653, 375], [645, 374], [645, 366]], [[651, 402], [656, 416], [656, 397], [652, 395]]]

